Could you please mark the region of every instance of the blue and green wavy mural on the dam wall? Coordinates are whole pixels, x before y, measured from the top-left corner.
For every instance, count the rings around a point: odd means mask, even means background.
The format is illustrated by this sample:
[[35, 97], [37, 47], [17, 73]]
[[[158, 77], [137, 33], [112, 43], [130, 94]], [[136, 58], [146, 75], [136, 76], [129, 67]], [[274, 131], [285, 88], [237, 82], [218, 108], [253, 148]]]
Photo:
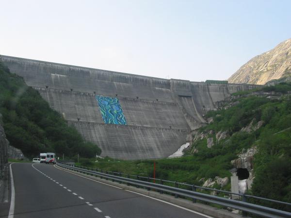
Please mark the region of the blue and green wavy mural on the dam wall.
[[96, 96], [105, 124], [127, 125], [117, 98]]

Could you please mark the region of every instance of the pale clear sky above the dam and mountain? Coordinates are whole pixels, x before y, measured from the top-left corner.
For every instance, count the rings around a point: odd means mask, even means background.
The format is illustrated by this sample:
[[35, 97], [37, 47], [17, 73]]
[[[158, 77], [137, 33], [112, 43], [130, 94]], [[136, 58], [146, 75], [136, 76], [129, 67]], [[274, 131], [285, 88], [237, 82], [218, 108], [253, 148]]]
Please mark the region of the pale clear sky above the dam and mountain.
[[0, 0], [0, 54], [227, 79], [291, 38], [291, 0]]

